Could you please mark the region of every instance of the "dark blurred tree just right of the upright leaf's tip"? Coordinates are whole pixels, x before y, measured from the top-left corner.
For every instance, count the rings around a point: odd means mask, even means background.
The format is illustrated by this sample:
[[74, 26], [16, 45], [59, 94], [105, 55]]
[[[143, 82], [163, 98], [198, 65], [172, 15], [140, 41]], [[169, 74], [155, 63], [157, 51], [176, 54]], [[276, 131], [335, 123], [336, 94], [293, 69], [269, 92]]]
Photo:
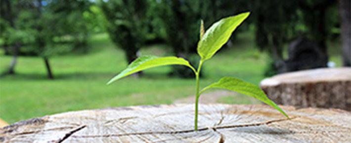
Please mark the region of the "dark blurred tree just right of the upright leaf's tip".
[[297, 8], [292, 0], [254, 0], [256, 43], [261, 50], [267, 49], [274, 61], [283, 60], [283, 44], [294, 30]]

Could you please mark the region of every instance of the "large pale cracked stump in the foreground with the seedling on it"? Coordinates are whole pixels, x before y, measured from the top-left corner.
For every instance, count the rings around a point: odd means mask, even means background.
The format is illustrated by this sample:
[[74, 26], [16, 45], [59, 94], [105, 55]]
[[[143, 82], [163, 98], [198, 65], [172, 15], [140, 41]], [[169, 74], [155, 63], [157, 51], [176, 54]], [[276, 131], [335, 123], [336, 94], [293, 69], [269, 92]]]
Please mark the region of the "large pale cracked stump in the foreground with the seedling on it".
[[0, 130], [11, 143], [350, 143], [351, 112], [266, 105], [116, 107], [72, 111], [17, 122]]

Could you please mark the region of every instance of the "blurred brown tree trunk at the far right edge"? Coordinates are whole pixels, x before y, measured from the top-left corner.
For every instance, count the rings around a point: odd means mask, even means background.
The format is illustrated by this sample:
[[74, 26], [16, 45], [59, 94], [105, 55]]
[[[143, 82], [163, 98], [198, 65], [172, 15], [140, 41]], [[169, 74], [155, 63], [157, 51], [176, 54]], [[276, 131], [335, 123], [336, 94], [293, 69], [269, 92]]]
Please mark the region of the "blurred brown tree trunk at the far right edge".
[[343, 65], [351, 67], [351, 3], [339, 0], [341, 39], [343, 45]]

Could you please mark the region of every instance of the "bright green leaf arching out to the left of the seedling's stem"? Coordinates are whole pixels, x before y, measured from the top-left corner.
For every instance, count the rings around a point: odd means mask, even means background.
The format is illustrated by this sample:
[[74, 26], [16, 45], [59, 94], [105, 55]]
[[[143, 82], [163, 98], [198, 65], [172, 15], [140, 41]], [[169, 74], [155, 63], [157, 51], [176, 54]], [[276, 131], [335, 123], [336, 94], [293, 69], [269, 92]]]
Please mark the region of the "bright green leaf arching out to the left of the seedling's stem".
[[142, 70], [166, 66], [166, 65], [184, 65], [195, 71], [195, 69], [183, 58], [170, 57], [157, 57], [157, 56], [141, 56], [134, 60], [124, 71], [113, 77], [107, 84], [110, 84], [120, 78], [131, 75], [135, 72]]

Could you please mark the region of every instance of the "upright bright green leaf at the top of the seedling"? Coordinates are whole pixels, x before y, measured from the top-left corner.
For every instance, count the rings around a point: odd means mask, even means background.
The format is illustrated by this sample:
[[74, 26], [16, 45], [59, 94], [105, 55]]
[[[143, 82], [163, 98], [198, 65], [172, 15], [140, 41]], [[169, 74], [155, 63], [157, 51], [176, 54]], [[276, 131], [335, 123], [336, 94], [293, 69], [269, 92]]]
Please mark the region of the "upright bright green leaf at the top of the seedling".
[[210, 59], [230, 38], [233, 31], [250, 15], [250, 12], [230, 16], [214, 23], [200, 39], [197, 52], [203, 61]]

